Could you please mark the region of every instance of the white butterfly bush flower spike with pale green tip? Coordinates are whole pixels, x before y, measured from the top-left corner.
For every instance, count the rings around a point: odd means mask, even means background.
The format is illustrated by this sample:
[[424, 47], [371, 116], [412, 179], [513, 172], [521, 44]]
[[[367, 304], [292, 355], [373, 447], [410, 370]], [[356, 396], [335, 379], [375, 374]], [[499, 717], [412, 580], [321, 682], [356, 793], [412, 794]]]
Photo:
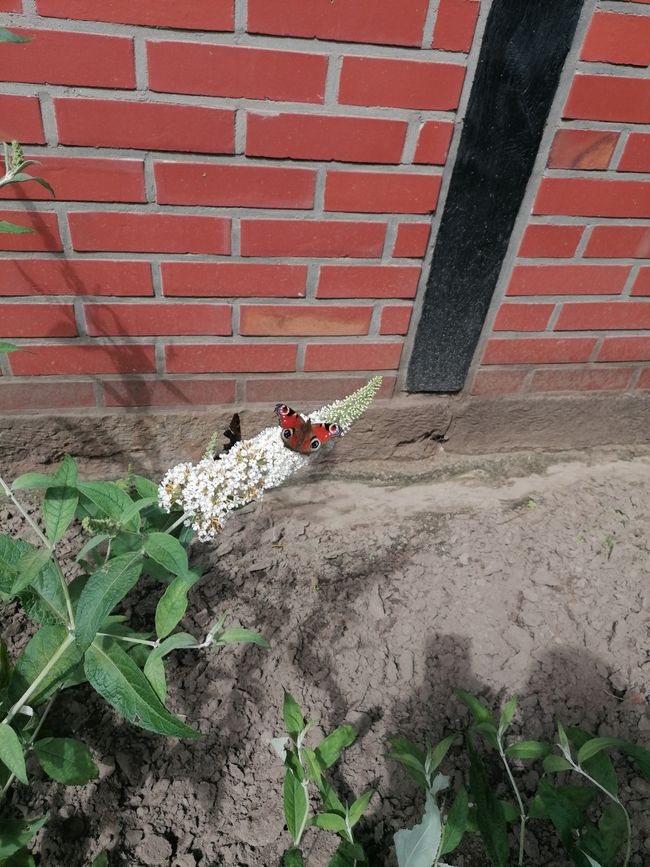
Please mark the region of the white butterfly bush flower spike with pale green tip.
[[[312, 421], [336, 422], [342, 434], [368, 409], [379, 390], [376, 376], [353, 394], [310, 414]], [[182, 463], [167, 472], [158, 489], [165, 511], [180, 507], [185, 524], [201, 541], [222, 529], [226, 518], [264, 491], [281, 485], [313, 458], [286, 448], [279, 427], [265, 428], [257, 436], [237, 443], [217, 460], [204, 456], [198, 464]]]

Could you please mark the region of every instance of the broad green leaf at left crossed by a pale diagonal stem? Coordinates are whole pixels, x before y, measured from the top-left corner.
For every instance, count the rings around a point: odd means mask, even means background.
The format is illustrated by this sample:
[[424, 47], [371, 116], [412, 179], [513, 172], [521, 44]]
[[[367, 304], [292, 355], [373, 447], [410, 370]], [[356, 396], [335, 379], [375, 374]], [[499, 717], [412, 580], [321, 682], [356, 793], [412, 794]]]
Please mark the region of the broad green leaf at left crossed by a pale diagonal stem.
[[[41, 626], [38, 632], [32, 636], [14, 666], [9, 686], [12, 701], [17, 701], [27, 687], [37, 677], [40, 677], [51, 658], [68, 639], [68, 634], [65, 626]], [[69, 672], [79, 663], [80, 659], [79, 649], [74, 643], [71, 643], [41, 681], [37, 691], [29, 700], [30, 705], [35, 706], [49, 698], [61, 681], [65, 680]]]

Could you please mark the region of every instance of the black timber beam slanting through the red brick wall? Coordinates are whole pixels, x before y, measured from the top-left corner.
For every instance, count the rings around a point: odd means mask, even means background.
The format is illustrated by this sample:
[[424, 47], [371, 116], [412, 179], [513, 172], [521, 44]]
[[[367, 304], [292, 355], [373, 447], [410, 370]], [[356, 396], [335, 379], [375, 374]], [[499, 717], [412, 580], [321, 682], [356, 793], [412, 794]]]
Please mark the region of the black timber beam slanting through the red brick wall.
[[499, 277], [583, 0], [494, 0], [407, 376], [459, 391]]

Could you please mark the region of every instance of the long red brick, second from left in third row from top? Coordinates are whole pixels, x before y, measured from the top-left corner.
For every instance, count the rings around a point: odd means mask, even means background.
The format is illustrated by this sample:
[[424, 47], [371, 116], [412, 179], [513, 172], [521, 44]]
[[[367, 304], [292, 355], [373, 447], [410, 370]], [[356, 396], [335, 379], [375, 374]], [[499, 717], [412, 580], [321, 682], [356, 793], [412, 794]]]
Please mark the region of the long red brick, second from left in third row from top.
[[59, 142], [91, 147], [231, 154], [234, 112], [197, 105], [55, 99]]

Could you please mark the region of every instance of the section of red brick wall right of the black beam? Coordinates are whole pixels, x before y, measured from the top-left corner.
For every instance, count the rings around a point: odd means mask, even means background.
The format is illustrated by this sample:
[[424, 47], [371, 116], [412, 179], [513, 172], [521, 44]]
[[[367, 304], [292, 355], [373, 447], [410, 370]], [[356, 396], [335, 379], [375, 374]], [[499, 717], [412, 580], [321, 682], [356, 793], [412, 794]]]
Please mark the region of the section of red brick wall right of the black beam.
[[650, 388], [650, 8], [600, 5], [558, 94], [474, 394]]

